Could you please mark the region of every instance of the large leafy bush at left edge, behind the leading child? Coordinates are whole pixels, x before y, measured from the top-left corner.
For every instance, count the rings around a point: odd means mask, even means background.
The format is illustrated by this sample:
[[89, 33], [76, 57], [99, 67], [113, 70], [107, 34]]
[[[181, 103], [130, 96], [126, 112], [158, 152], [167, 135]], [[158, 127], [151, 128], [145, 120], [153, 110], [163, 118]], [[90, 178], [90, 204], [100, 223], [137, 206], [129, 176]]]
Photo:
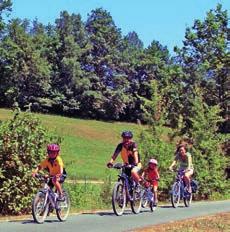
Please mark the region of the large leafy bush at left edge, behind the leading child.
[[37, 190], [31, 173], [45, 157], [47, 131], [30, 113], [16, 112], [0, 125], [0, 212], [26, 213]]

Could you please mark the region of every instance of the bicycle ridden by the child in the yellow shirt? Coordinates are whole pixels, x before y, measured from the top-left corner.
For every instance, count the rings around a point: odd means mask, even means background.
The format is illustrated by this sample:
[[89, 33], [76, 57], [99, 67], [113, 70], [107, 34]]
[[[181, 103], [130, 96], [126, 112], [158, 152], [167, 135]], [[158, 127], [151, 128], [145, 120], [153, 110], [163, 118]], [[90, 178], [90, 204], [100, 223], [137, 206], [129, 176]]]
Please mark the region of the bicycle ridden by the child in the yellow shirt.
[[58, 194], [48, 185], [52, 177], [44, 177], [40, 174], [35, 176], [39, 181], [44, 183], [34, 196], [32, 201], [32, 215], [35, 222], [42, 224], [46, 217], [55, 210], [59, 221], [65, 221], [69, 215], [70, 199], [68, 193], [63, 189], [64, 200], [58, 200]]

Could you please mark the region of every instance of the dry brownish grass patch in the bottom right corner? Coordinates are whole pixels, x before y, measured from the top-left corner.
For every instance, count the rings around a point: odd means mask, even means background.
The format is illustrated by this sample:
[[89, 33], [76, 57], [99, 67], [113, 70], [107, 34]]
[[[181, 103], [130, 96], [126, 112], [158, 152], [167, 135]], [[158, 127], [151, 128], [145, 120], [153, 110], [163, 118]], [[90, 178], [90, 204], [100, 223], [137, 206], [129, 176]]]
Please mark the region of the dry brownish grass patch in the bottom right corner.
[[136, 230], [136, 232], [229, 232], [230, 212], [204, 216]]

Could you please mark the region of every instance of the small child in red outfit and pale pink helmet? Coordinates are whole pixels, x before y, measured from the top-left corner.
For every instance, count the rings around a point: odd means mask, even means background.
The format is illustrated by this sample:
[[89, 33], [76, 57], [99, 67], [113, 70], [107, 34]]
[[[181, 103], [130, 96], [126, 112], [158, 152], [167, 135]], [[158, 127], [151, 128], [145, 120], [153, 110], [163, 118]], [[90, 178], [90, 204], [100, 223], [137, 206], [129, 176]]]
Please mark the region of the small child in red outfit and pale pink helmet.
[[158, 188], [158, 181], [160, 179], [160, 175], [158, 172], [158, 162], [156, 159], [150, 159], [148, 162], [148, 167], [144, 169], [142, 173], [142, 178], [144, 178], [144, 183], [146, 187], [151, 186], [154, 194], [154, 206], [157, 206], [158, 199], [157, 199], [157, 188]]

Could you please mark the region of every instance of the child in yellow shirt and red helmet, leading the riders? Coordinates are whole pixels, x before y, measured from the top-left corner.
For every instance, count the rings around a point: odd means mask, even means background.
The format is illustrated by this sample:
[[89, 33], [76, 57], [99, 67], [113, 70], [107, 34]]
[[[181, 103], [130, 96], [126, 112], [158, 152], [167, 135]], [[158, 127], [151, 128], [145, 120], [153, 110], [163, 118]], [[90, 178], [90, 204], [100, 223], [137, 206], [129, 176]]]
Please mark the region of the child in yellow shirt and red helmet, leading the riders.
[[47, 146], [47, 158], [43, 160], [37, 168], [32, 172], [32, 176], [35, 177], [35, 175], [41, 170], [41, 169], [47, 169], [49, 171], [50, 176], [52, 177], [51, 183], [49, 183], [49, 186], [53, 187], [55, 186], [58, 191], [58, 200], [63, 201], [64, 196], [62, 192], [61, 183], [64, 182], [66, 178], [66, 172], [64, 170], [64, 164], [62, 161], [62, 158], [59, 156], [60, 147], [57, 144], [49, 144]]

